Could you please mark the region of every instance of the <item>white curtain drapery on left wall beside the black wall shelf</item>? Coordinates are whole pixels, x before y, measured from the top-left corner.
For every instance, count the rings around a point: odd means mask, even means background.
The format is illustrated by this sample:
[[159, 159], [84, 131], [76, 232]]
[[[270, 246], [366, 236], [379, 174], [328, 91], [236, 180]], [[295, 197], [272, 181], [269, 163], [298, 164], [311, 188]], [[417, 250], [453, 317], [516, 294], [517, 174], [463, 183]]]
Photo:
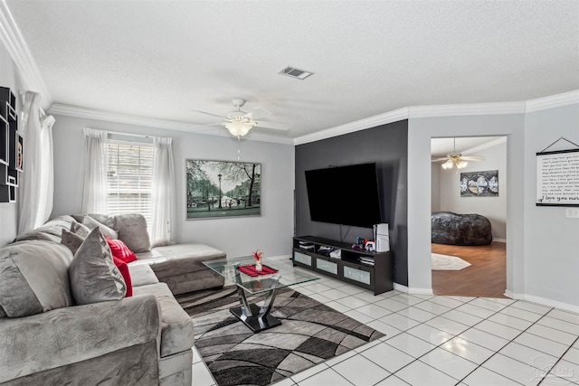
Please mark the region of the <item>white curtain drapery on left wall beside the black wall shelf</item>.
[[24, 102], [23, 169], [18, 189], [18, 234], [31, 231], [52, 213], [52, 116], [40, 120], [41, 95], [27, 91]]

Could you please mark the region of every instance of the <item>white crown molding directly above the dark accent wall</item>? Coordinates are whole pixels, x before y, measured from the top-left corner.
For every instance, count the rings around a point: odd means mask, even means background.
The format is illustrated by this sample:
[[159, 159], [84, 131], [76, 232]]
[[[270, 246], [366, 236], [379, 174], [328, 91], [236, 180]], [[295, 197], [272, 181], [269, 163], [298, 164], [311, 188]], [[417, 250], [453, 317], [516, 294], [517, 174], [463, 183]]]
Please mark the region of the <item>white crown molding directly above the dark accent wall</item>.
[[366, 128], [377, 127], [403, 119], [408, 119], [408, 108], [399, 108], [374, 117], [356, 120], [355, 122], [346, 123], [345, 125], [327, 128], [326, 130], [321, 130], [302, 137], [296, 137], [294, 138], [293, 143], [294, 145], [307, 144], [309, 142], [342, 136], [344, 134], [354, 133], [356, 131], [365, 130]]

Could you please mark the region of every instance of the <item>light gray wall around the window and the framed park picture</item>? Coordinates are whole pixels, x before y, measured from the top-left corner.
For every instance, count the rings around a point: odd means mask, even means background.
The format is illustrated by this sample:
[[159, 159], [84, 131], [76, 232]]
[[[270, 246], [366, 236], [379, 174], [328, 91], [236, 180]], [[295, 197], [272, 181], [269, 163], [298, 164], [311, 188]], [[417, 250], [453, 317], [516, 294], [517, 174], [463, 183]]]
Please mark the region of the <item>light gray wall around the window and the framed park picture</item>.
[[237, 138], [56, 116], [52, 216], [81, 212], [83, 127], [172, 137], [176, 167], [176, 240], [202, 242], [228, 256], [288, 255], [293, 227], [294, 146], [242, 140], [241, 160], [261, 163], [261, 216], [185, 220], [185, 158], [237, 160]]

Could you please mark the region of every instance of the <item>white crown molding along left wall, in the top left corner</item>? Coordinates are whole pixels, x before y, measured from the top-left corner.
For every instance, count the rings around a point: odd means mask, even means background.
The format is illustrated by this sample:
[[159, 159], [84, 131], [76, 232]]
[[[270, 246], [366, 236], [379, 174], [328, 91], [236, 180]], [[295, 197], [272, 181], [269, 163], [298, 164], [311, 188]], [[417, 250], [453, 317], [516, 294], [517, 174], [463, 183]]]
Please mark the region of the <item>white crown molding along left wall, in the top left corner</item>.
[[43, 108], [51, 106], [51, 93], [48, 91], [36, 61], [34, 61], [33, 54], [30, 52], [28, 44], [4, 0], [0, 2], [0, 41], [4, 43], [18, 71], [20, 71], [24, 86], [42, 95]]

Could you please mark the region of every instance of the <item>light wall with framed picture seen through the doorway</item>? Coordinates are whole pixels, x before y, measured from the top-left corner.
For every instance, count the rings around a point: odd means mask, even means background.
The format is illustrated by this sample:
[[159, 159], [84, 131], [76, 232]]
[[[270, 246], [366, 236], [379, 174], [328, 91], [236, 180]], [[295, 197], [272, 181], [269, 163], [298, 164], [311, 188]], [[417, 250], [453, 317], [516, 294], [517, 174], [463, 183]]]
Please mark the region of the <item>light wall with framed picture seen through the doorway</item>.
[[[432, 190], [439, 185], [438, 199], [439, 210], [442, 212], [455, 213], [478, 213], [487, 217], [492, 227], [493, 239], [507, 239], [507, 142], [479, 150], [476, 154], [485, 157], [481, 162], [470, 162], [467, 167], [455, 173], [456, 169], [441, 170], [441, 164], [436, 164], [439, 169], [439, 179], [435, 182], [432, 175]], [[470, 173], [485, 170], [498, 170], [498, 197], [460, 197], [460, 173]], [[432, 194], [432, 201], [435, 194]]]

